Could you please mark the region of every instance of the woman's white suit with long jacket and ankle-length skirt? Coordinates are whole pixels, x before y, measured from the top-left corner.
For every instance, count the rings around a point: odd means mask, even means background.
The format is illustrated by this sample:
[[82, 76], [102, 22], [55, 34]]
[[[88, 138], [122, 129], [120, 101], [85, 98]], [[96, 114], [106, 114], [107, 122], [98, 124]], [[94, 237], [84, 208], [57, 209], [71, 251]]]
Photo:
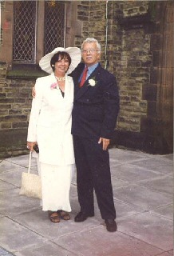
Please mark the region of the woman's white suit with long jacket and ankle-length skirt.
[[[65, 75], [64, 98], [58, 87], [51, 88], [54, 85], [57, 85], [54, 74], [36, 81], [36, 98], [32, 102], [27, 141], [38, 142], [43, 210], [69, 211], [69, 188], [74, 164], [71, 135], [73, 79]], [[52, 204], [50, 201], [55, 198], [56, 202]]]

